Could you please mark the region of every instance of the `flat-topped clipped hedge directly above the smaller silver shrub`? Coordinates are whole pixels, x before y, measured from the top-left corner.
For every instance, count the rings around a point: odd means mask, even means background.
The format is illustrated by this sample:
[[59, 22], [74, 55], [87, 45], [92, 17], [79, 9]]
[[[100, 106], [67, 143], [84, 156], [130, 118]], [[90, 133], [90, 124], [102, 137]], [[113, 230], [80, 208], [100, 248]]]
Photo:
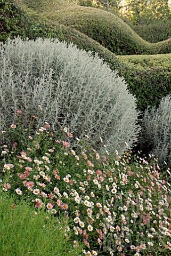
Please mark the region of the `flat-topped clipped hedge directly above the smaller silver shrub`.
[[125, 65], [120, 69], [137, 106], [158, 106], [160, 99], [171, 92], [171, 54], [118, 56]]

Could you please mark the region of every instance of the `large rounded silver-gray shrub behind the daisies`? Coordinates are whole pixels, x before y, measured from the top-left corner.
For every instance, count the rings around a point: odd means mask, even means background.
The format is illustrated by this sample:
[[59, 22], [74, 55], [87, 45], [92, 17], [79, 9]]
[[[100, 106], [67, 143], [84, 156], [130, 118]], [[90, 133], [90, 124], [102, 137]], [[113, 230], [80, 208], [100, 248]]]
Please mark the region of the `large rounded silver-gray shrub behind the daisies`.
[[135, 98], [98, 57], [58, 39], [16, 38], [1, 43], [0, 65], [2, 129], [22, 109], [26, 123], [37, 115], [39, 123], [67, 126], [96, 145], [101, 137], [110, 150], [132, 146], [139, 132]]

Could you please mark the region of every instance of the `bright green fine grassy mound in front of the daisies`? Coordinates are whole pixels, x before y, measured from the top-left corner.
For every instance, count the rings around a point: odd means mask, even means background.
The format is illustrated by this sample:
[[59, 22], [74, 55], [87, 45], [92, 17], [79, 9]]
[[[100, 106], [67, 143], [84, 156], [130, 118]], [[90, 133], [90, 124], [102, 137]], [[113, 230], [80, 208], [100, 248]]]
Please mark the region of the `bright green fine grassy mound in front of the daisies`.
[[[0, 197], [0, 254], [6, 256], [76, 256], [80, 249], [73, 249], [64, 236], [64, 218], [56, 223], [52, 215], [35, 209], [14, 197]], [[48, 218], [48, 219], [47, 219]], [[60, 229], [62, 227], [62, 229]], [[70, 232], [68, 236], [70, 236]]]

